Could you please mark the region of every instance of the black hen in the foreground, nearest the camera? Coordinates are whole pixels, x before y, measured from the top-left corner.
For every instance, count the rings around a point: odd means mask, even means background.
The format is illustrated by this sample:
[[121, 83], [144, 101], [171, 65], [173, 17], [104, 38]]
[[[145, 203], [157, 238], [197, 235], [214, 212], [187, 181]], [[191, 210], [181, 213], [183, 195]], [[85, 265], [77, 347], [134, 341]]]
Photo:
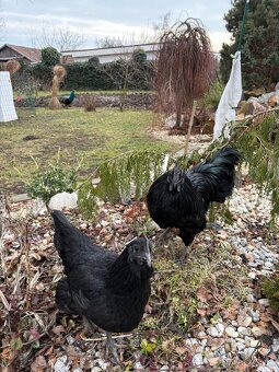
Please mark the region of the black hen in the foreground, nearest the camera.
[[106, 330], [107, 350], [118, 360], [111, 333], [131, 332], [143, 316], [153, 274], [150, 242], [135, 239], [118, 255], [92, 244], [62, 212], [53, 211], [53, 218], [66, 274], [57, 284], [57, 306]]

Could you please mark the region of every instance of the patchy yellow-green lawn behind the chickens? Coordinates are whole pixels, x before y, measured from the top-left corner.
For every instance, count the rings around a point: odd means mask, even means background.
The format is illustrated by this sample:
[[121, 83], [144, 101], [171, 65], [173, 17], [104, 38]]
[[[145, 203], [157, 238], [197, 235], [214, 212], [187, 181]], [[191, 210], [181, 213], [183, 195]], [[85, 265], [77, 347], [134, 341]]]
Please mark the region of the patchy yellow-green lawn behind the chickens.
[[[0, 185], [2, 190], [23, 191], [23, 182], [35, 171], [34, 161], [44, 165], [59, 148], [68, 165], [82, 161], [81, 173], [89, 173], [104, 159], [130, 150], [174, 150], [170, 142], [155, 140], [149, 129], [153, 114], [147, 111], [81, 108], [50, 111], [37, 108], [34, 117], [20, 111], [20, 119], [0, 124]], [[37, 139], [24, 140], [26, 136]]]

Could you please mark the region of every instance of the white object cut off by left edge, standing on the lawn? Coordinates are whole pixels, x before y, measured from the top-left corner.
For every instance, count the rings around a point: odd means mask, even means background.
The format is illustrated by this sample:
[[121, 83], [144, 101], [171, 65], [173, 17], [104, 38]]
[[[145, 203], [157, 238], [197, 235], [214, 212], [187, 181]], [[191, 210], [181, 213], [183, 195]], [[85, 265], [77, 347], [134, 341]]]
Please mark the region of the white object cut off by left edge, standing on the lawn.
[[16, 120], [13, 89], [9, 71], [0, 72], [0, 123]]

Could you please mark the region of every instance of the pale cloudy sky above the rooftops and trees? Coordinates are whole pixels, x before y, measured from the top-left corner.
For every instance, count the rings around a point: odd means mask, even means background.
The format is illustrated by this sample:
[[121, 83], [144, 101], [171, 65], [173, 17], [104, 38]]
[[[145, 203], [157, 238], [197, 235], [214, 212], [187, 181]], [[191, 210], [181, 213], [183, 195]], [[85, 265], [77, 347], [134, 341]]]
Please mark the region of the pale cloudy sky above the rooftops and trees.
[[[199, 19], [218, 51], [222, 43], [230, 40], [225, 31], [224, 14], [231, 8], [230, 0], [0, 0], [4, 27], [0, 44], [32, 45], [32, 32], [38, 32], [43, 23], [67, 26], [82, 33], [81, 48], [95, 47], [96, 38], [120, 37], [142, 31], [150, 33], [171, 12], [171, 23], [186, 18]], [[127, 36], [126, 36], [127, 37]], [[136, 36], [135, 36], [136, 37]]]

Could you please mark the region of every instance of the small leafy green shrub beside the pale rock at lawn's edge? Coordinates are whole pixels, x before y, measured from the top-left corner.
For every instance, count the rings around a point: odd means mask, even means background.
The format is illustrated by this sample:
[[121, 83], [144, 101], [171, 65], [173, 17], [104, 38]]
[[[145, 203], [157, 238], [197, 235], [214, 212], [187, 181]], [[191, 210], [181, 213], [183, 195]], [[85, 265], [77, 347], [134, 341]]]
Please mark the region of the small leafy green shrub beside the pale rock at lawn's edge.
[[40, 198], [46, 204], [57, 193], [72, 193], [77, 188], [78, 168], [66, 168], [60, 163], [60, 154], [56, 162], [50, 162], [47, 168], [42, 170], [36, 161], [34, 177], [26, 184], [26, 191], [32, 198]]

